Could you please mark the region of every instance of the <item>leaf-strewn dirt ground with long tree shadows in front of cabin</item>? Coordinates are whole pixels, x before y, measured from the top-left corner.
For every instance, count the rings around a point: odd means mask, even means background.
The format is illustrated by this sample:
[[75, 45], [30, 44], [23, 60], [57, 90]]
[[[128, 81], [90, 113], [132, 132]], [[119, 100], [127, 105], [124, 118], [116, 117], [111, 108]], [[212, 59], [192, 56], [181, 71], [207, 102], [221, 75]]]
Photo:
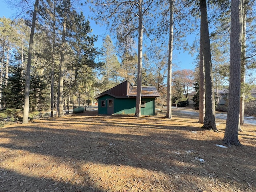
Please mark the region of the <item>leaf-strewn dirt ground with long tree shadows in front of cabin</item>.
[[255, 192], [256, 126], [222, 148], [198, 117], [97, 115], [0, 128], [1, 192]]

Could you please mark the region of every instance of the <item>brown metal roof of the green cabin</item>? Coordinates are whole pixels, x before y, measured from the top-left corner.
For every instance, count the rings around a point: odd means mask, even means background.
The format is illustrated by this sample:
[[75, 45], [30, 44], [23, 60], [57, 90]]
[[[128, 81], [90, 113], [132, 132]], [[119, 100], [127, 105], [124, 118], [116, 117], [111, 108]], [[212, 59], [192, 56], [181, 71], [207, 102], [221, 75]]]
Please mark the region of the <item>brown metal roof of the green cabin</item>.
[[[113, 88], [106, 90], [94, 98], [99, 98], [104, 95], [110, 95], [115, 98], [128, 98], [128, 97], [136, 97], [137, 96], [137, 86], [132, 86], [130, 82], [125, 81], [121, 84], [114, 86]], [[142, 86], [142, 97], [160, 97], [159, 92], [156, 90], [154, 86]]]

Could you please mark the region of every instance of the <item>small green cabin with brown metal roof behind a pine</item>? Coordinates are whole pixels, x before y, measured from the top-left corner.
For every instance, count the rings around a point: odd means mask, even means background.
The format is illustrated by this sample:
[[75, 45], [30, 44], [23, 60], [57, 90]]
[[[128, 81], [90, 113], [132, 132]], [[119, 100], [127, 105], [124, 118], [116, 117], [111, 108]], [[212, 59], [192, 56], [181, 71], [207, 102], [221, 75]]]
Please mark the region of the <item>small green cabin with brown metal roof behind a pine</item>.
[[[135, 114], [137, 86], [125, 81], [96, 95], [98, 114]], [[155, 115], [155, 99], [160, 94], [154, 86], [142, 86], [141, 114]]]

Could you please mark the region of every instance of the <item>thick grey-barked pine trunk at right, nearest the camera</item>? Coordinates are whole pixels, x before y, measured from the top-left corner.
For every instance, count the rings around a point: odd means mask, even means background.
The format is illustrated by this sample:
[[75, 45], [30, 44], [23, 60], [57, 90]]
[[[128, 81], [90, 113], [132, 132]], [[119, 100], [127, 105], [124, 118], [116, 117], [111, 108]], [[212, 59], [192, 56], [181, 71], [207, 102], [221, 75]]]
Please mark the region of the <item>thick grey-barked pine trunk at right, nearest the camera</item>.
[[223, 138], [223, 143], [228, 146], [240, 145], [238, 130], [240, 127], [242, 12], [242, 0], [231, 0], [229, 103], [226, 129]]

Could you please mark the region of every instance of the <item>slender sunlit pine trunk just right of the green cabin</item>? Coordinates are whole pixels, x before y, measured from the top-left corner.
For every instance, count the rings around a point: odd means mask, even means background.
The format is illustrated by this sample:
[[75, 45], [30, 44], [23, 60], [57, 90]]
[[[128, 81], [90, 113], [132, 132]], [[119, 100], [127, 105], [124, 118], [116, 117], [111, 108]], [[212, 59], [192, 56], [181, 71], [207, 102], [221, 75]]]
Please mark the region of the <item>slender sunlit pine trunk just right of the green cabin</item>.
[[167, 72], [167, 107], [166, 118], [172, 118], [172, 50], [173, 50], [173, 0], [170, 0], [170, 28]]

